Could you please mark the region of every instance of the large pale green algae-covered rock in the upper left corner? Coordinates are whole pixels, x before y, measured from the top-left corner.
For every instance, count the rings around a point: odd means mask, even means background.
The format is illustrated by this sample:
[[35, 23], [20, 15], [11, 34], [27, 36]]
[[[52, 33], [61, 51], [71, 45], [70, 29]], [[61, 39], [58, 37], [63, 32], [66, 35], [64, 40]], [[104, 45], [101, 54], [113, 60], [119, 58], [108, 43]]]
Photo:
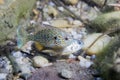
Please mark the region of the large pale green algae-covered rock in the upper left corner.
[[36, 0], [2, 0], [0, 4], [0, 44], [13, 38], [22, 18], [28, 18]]

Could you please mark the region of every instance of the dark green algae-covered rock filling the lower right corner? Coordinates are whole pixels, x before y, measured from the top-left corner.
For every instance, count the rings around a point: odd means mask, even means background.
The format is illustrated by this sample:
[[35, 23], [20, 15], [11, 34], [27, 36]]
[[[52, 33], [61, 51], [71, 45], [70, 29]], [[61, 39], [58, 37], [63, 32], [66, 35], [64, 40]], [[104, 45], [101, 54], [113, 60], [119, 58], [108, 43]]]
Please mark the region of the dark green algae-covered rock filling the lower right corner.
[[97, 64], [96, 68], [100, 70], [101, 75], [105, 80], [119, 80], [120, 79], [120, 76], [119, 76], [120, 72], [116, 71], [114, 67], [116, 66], [115, 61], [119, 57], [118, 56], [114, 58], [114, 56], [116, 55], [115, 51], [117, 51], [118, 48], [120, 48], [120, 36], [115, 37], [111, 41], [111, 43], [103, 51], [101, 51], [100, 54], [97, 55], [96, 57], [96, 61], [95, 61]]

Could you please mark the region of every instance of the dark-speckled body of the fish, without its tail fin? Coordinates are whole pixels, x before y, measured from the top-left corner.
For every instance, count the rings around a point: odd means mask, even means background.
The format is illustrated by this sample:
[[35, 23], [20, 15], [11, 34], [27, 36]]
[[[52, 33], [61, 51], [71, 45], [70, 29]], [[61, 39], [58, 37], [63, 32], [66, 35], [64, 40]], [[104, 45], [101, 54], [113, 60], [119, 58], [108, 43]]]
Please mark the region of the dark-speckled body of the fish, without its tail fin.
[[73, 42], [68, 33], [53, 27], [42, 29], [28, 38], [50, 48], [64, 48]]

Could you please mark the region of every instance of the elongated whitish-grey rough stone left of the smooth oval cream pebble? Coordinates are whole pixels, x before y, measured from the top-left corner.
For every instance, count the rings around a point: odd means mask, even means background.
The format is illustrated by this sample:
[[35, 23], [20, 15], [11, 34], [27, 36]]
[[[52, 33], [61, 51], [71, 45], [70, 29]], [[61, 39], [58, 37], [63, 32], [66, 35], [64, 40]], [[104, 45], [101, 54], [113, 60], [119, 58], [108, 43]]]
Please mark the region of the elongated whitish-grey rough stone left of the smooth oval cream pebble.
[[[19, 69], [21, 71], [21, 75], [30, 75], [32, 71], [34, 71], [32, 63], [30, 62], [30, 59], [23, 55], [22, 52], [12, 52], [13, 59], [15, 63], [19, 66]], [[24, 77], [26, 77], [24, 75]]]

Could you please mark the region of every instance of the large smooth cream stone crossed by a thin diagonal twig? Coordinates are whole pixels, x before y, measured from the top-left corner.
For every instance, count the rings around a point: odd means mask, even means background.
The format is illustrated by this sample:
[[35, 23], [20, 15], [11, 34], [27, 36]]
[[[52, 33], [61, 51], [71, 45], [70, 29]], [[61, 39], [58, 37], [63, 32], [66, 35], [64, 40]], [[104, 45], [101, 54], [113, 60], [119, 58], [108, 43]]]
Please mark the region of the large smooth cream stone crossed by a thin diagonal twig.
[[[86, 38], [84, 38], [83, 42], [83, 50], [86, 50], [102, 33], [93, 33], [90, 35], [87, 35]], [[93, 45], [87, 50], [87, 53], [89, 55], [95, 55], [102, 51], [112, 40], [112, 38], [108, 35], [104, 35], [100, 37]]]

